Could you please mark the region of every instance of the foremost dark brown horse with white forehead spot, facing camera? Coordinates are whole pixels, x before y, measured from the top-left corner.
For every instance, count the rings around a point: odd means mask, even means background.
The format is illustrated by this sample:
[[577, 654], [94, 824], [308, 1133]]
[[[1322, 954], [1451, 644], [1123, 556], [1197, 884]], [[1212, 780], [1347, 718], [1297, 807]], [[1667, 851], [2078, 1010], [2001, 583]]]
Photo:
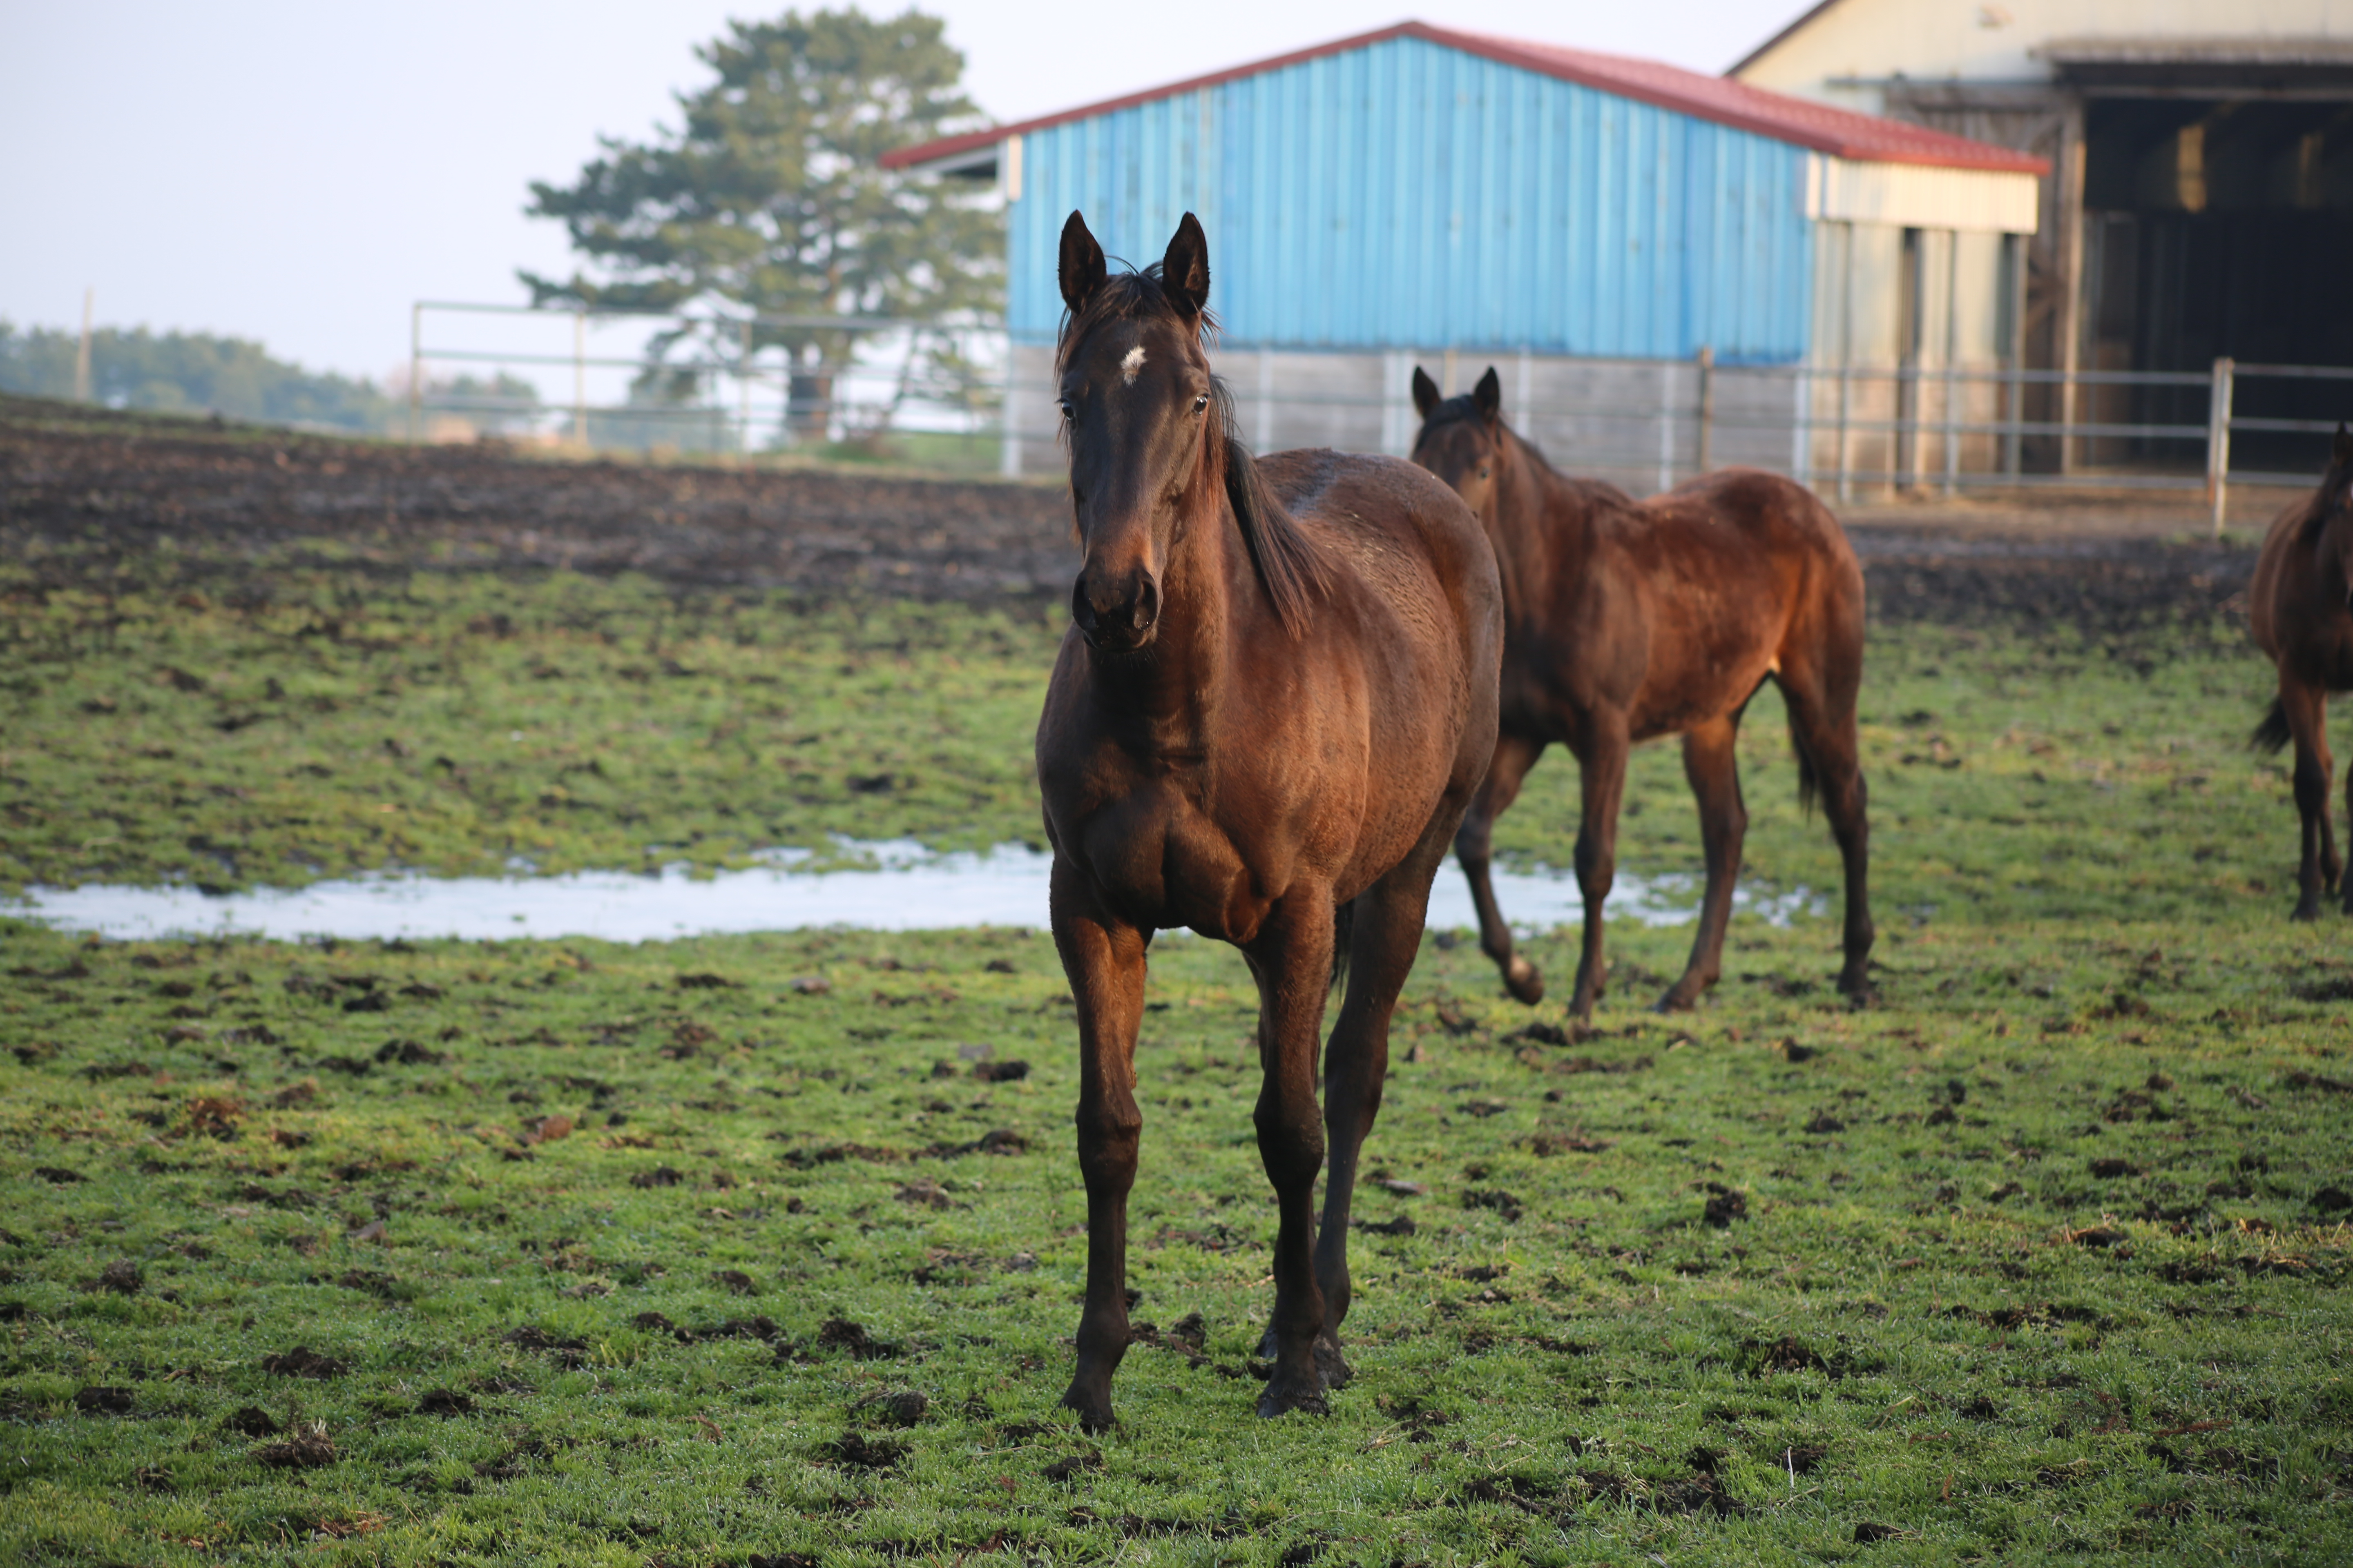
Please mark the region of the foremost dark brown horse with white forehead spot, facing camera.
[[[1127, 1349], [1127, 1190], [1144, 950], [1191, 926], [1259, 983], [1257, 1128], [1275, 1185], [1275, 1371], [1261, 1415], [1346, 1378], [1348, 1201], [1388, 1016], [1494, 752], [1504, 607], [1454, 491], [1393, 458], [1252, 461], [1209, 376], [1209, 249], [1108, 277], [1073, 212], [1056, 350], [1082, 564], [1038, 722], [1054, 945], [1078, 1001], [1087, 1305], [1064, 1403], [1111, 1422]], [[1348, 990], [1315, 1046], [1337, 959]], [[1329, 1138], [1322, 1232], [1311, 1201]]]

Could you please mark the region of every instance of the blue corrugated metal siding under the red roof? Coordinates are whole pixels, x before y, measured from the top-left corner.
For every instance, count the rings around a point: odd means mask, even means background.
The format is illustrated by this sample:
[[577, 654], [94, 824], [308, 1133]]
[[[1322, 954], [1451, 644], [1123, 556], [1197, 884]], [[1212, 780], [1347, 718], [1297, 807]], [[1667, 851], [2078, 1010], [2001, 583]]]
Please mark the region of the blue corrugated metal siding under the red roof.
[[1414, 38], [1024, 139], [1009, 317], [1052, 334], [1073, 207], [1113, 256], [1193, 209], [1226, 334], [1793, 362], [1805, 150]]

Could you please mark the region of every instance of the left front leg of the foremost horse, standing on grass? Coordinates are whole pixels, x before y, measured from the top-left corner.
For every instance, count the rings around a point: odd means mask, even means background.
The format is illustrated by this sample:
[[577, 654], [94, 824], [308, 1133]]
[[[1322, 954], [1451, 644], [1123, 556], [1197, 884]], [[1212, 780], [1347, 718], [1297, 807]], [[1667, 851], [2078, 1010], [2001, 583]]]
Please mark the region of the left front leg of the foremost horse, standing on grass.
[[1144, 1020], [1139, 931], [1099, 907], [1087, 877], [1054, 858], [1054, 947], [1078, 1001], [1078, 1171], [1087, 1182], [1087, 1305], [1078, 1371], [1061, 1403], [1087, 1432], [1111, 1427], [1111, 1375], [1127, 1354], [1127, 1190], [1136, 1182], [1136, 1025]]

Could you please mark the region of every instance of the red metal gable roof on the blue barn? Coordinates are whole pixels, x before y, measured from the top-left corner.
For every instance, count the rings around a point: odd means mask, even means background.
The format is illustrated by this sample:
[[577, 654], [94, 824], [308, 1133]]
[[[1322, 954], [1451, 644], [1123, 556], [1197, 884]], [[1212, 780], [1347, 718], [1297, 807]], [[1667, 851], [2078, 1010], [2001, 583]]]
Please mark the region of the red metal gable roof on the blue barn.
[[1247, 66], [1231, 66], [1226, 71], [1195, 75], [1184, 82], [1132, 92], [1122, 99], [1066, 108], [1056, 115], [1040, 115], [1035, 120], [1000, 125], [986, 132], [965, 132], [962, 136], [925, 141], [920, 146], [885, 153], [882, 167], [906, 169], [911, 165], [955, 158], [958, 153], [972, 153], [1024, 132], [1040, 132], [1049, 125], [1106, 115], [1118, 108], [1151, 103], [1153, 99], [1167, 99], [1179, 92], [1217, 87], [1245, 75], [1280, 71], [1282, 66], [1297, 66], [1327, 54], [1365, 49], [1377, 42], [1388, 42], [1391, 38], [1421, 38], [1426, 42], [1461, 49], [1464, 54], [1478, 54], [1480, 59], [1492, 59], [1504, 66], [1520, 66], [1522, 71], [1551, 75], [1562, 82], [1579, 82], [1598, 92], [1612, 92], [1621, 99], [1657, 103], [1659, 108], [1671, 108], [1675, 113], [1692, 115], [1694, 120], [1713, 120], [1715, 125], [1755, 132], [1758, 136], [1772, 136], [1774, 141], [1788, 141], [1833, 158], [1852, 158], [1859, 162], [1915, 162], [1944, 169], [2049, 174], [2049, 162], [2033, 158], [2031, 153], [1969, 141], [1967, 136], [1948, 136], [1920, 125], [1904, 125], [1901, 120], [1880, 120], [1878, 115], [1857, 115], [1845, 108], [1828, 108], [1824, 103], [1765, 92], [1762, 87], [1751, 87], [1720, 75], [1701, 75], [1699, 71], [1682, 71], [1680, 66], [1631, 59], [1626, 54], [1595, 54], [1591, 49], [1562, 49], [1560, 45], [1525, 42], [1520, 38], [1457, 33], [1454, 28], [1433, 28], [1426, 21], [1400, 21], [1398, 26], [1388, 26], [1377, 33], [1337, 38], [1327, 45], [1315, 45], [1313, 49], [1297, 49], [1292, 54], [1278, 54]]

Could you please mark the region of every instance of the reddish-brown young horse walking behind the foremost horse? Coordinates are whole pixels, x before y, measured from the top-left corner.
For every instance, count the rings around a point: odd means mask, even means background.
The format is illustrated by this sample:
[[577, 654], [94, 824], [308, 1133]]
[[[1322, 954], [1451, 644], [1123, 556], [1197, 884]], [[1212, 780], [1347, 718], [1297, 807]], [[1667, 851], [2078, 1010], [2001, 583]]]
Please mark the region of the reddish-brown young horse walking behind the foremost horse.
[[1798, 797], [1807, 806], [1824, 797], [1845, 856], [1847, 961], [1838, 985], [1866, 997], [1871, 830], [1854, 750], [1864, 571], [1831, 510], [1802, 484], [1753, 468], [1725, 468], [1649, 501], [1569, 480], [1504, 423], [1494, 369], [1468, 397], [1447, 400], [1414, 369], [1414, 461], [1471, 503], [1504, 571], [1501, 736], [1454, 853], [1471, 877], [1480, 945], [1511, 994], [1541, 999], [1544, 976], [1511, 950], [1487, 877], [1489, 842], [1494, 818], [1555, 741], [1577, 755], [1584, 778], [1577, 884], [1586, 931], [1569, 1011], [1591, 1016], [1602, 992], [1602, 900], [1617, 872], [1626, 752], [1652, 736], [1682, 736], [1708, 856], [1692, 961], [1659, 1009], [1687, 1009], [1718, 980], [1748, 830], [1732, 743], [1748, 698], [1772, 679], [1788, 703]]

